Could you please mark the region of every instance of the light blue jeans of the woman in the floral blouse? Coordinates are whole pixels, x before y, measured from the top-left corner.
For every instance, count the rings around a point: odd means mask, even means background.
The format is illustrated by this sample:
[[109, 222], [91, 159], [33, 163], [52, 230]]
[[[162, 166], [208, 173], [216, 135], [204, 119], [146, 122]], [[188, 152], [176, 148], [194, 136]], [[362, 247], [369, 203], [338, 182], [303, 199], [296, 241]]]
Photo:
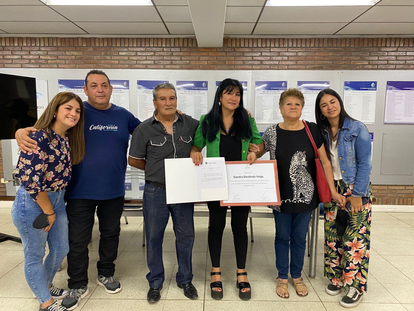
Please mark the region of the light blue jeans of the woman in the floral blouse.
[[[52, 284], [56, 271], [69, 252], [64, 194], [65, 190], [48, 192], [56, 214], [56, 220], [49, 232], [33, 228], [34, 219], [43, 211], [24, 187], [20, 186], [17, 190], [12, 206], [13, 224], [19, 231], [23, 243], [24, 275], [41, 304], [52, 298], [48, 285]], [[49, 253], [43, 263], [46, 242], [49, 245]]]

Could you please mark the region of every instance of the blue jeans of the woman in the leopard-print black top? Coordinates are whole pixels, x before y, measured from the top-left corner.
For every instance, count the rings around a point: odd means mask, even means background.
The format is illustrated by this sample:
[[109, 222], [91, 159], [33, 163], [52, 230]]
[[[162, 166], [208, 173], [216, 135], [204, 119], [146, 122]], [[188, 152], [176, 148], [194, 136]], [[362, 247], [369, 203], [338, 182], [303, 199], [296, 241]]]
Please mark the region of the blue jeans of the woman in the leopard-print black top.
[[302, 276], [306, 235], [312, 211], [281, 213], [273, 210], [273, 215], [276, 227], [274, 251], [276, 253], [276, 269], [279, 271], [279, 278], [288, 278], [290, 245], [290, 276], [293, 279], [298, 279]]

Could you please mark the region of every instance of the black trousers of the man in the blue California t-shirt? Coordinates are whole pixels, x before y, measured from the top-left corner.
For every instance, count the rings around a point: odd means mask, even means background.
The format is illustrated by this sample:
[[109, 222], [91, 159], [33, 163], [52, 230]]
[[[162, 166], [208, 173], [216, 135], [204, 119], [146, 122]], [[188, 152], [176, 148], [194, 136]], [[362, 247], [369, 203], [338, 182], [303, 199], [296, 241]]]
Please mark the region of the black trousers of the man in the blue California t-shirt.
[[79, 289], [88, 284], [88, 244], [96, 215], [99, 221], [98, 275], [112, 277], [113, 263], [118, 256], [120, 218], [124, 207], [124, 196], [107, 200], [68, 199], [66, 214], [69, 223], [69, 253], [67, 254], [67, 286]]

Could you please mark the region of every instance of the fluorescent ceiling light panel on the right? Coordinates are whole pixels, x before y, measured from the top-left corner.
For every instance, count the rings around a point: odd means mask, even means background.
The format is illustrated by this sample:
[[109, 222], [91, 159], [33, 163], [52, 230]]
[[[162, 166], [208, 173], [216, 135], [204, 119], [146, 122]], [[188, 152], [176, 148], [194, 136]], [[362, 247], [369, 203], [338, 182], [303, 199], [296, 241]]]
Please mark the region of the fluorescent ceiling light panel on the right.
[[374, 5], [378, 0], [267, 0], [267, 7], [322, 7]]

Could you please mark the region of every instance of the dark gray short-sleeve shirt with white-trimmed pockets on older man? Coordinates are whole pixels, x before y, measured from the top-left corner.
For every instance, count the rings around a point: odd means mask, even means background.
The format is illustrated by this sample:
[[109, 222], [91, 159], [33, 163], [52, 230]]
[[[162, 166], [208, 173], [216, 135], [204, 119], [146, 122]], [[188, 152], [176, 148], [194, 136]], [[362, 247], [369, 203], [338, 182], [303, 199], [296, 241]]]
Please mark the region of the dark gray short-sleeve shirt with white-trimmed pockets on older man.
[[165, 185], [164, 159], [188, 158], [199, 121], [185, 114], [175, 116], [172, 135], [154, 115], [132, 134], [129, 156], [145, 159], [145, 180]]

